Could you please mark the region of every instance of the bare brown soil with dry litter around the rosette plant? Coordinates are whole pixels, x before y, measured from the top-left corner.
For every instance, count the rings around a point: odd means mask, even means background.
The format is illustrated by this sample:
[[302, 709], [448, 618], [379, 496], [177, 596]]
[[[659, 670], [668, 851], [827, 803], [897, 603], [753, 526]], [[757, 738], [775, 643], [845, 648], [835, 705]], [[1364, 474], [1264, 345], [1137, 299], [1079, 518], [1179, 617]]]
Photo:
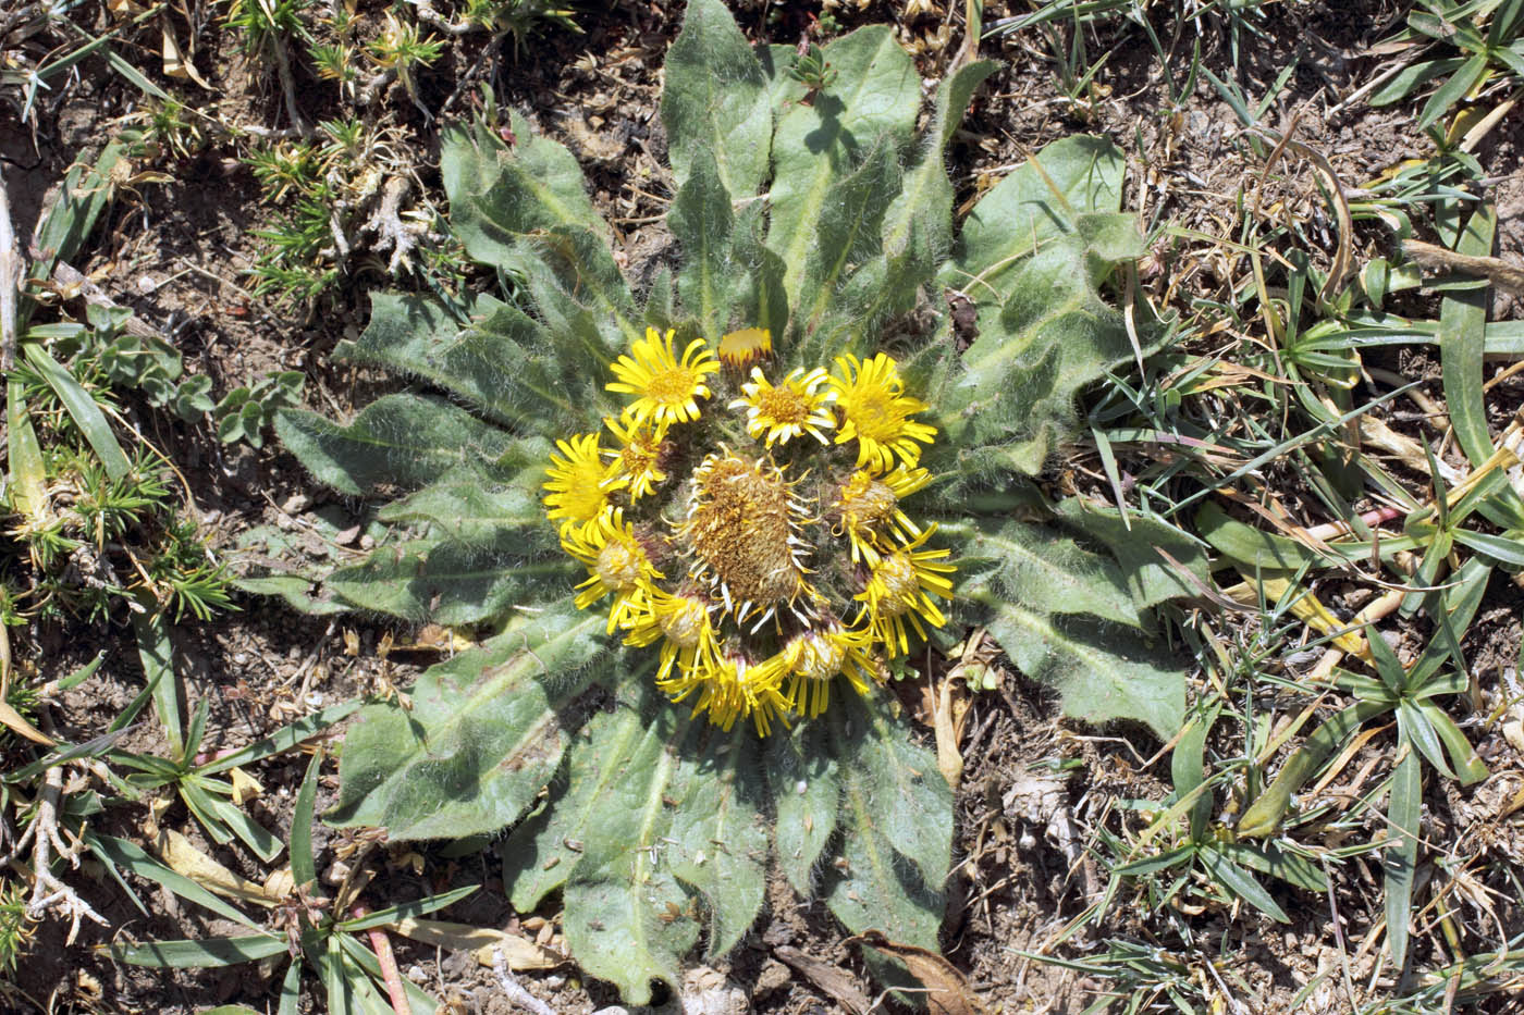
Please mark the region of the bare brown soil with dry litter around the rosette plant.
[[[796, 43], [820, 26], [818, 5], [742, 3], [738, 20], [757, 41]], [[924, 9], [922, 9], [924, 8]], [[1010, 8], [1007, 11], [1007, 8]], [[363, 0], [360, 18], [379, 20], [383, 5]], [[919, 9], [907, 14], [907, 9]], [[986, 24], [1026, 12], [1021, 5], [992, 3]], [[1149, 8], [1145, 8], [1146, 11]], [[218, 29], [215, 17], [200, 18], [197, 62], [212, 85], [190, 88], [166, 79], [152, 52], [155, 32], [125, 34], [122, 52], [155, 81], [203, 104], [227, 123], [287, 126], [280, 88], [273, 75], [251, 66], [233, 38]], [[1120, 20], [1084, 30], [1090, 61], [1108, 53], [1090, 88], [1079, 98], [1065, 96], [1055, 73], [1050, 50], [1033, 35], [988, 40], [983, 55], [1004, 61], [1004, 69], [981, 88], [960, 131], [951, 171], [960, 206], [975, 198], [1027, 152], [1073, 133], [1099, 133], [1116, 140], [1128, 154], [1128, 206], [1141, 221], [1167, 221], [1207, 235], [1222, 235], [1239, 221], [1244, 194], [1263, 204], [1279, 203], [1288, 219], [1303, 223], [1308, 235], [1329, 239], [1334, 229], [1317, 177], [1306, 163], [1274, 169], [1245, 155], [1230, 143], [1237, 122], [1218, 90], [1198, 76], [1192, 93], [1175, 113], [1170, 90], [1186, 85], [1190, 49], [1201, 47], [1201, 62], [1218, 78], [1234, 81], [1259, 99], [1280, 72], [1297, 61], [1294, 75], [1276, 94], [1265, 120], [1294, 133], [1320, 151], [1346, 186], [1358, 186], [1407, 155], [1426, 149], [1413, 130], [1410, 105], [1372, 108], [1343, 104], [1364, 84], [1379, 59], [1372, 46], [1398, 24], [1401, 11], [1390, 3], [1269, 3], [1259, 29], [1237, 32], [1218, 15], [1178, 24], [1160, 12], [1155, 27], [1184, 26], [1187, 35], [1164, 38], [1177, 61], [1161, 67], [1145, 35]], [[917, 56], [922, 73], [937, 78], [951, 50], [962, 43], [962, 15], [940, 5], [847, 3], [831, 12], [843, 30], [872, 21], [893, 21], [901, 38]], [[70, 18], [99, 34], [110, 24], [104, 8], [85, 3]], [[663, 171], [664, 140], [655, 104], [660, 94], [663, 53], [677, 34], [681, 5], [666, 0], [643, 3], [582, 5], [576, 20], [582, 34], [546, 29], [526, 41], [515, 55], [512, 43], [485, 52], [485, 37], [466, 37], [450, 44], [445, 56], [419, 78], [418, 102], [389, 94], [386, 123], [408, 146], [418, 180], [436, 200], [437, 128], [466, 111], [474, 90], [491, 82], [500, 102], [523, 110], [549, 136], [564, 142], [582, 162], [599, 209], [614, 224], [629, 264], [654, 262], [666, 248], [658, 216], [664, 212], [669, 186]], [[1064, 23], [1059, 37], [1073, 40]], [[1239, 49], [1237, 58], [1233, 49]], [[309, 69], [297, 67], [297, 99], [308, 104], [312, 120], [332, 116], [329, 91]], [[437, 120], [424, 110], [453, 104]], [[0, 102], [0, 158], [11, 187], [18, 232], [26, 235], [49, 186], [81, 158], [90, 158], [102, 142], [134, 110], [142, 93], [113, 73], [104, 59], [78, 64], [66, 82], [44, 94], [29, 119], [21, 119], [15, 96]], [[1524, 248], [1524, 117], [1516, 113], [1494, 131], [1477, 157], [1495, 181], [1500, 212], [1500, 253]], [[187, 370], [206, 373], [223, 393], [273, 370], [300, 370], [308, 378], [305, 399], [312, 408], [343, 416], [363, 404], [378, 383], [329, 360], [335, 343], [352, 337], [367, 320], [369, 293], [389, 285], [384, 258], [355, 258], [341, 283], [315, 306], [279, 306], [250, 294], [247, 268], [261, 250], [253, 230], [270, 221], [247, 154], [230, 136], [210, 136], [194, 154], [165, 154], [134, 165], [134, 183], [125, 186], [96, 229], [78, 267], [96, 277], [107, 294], [169, 335], [186, 360]], [[1420, 232], [1425, 229], [1420, 226]], [[1391, 235], [1372, 223], [1359, 226], [1358, 255], [1393, 255]], [[1323, 250], [1326, 258], [1332, 241]], [[1199, 244], [1161, 241], [1158, 264], [1145, 271], [1143, 283], [1166, 305], [1186, 308], [1190, 297], [1222, 297], [1241, 280], [1236, 267], [1209, 256]], [[1407, 297], [1414, 312], [1434, 315], [1426, 296]], [[1495, 319], [1516, 317], [1518, 306], [1498, 297]], [[1254, 323], [1245, 325], [1253, 328]], [[1216, 338], [1207, 340], [1215, 341]], [[1407, 378], [1422, 378], [1431, 402], [1443, 404], [1437, 354], [1382, 351], [1367, 360]], [[1524, 404], [1524, 378], [1500, 384], [1489, 401], [1501, 422]], [[267, 443], [253, 450], [224, 445], [204, 425], [190, 427], [162, 413], [137, 408], [136, 419], [189, 480], [212, 544], [233, 553], [241, 533], [255, 526], [293, 524], [299, 507], [334, 503], [354, 507], [314, 489], [293, 459]], [[1393, 416], [1393, 427], [1417, 433], [1417, 424]], [[1123, 460], [1141, 468], [1140, 462]], [[1105, 494], [1093, 448], [1073, 448], [1055, 460], [1047, 482], [1055, 489], [1096, 489]], [[1294, 475], [1282, 477], [1288, 501], [1297, 497]], [[1337, 582], [1321, 590], [1327, 602], [1344, 607]], [[1358, 608], [1358, 597], [1344, 607]], [[1189, 622], [1213, 607], [1202, 600], [1181, 611]], [[1478, 681], [1497, 690], [1504, 669], [1515, 666], [1524, 593], [1506, 575], [1494, 578], [1478, 622], [1466, 636], [1466, 652]], [[366, 617], [312, 619], [279, 602], [239, 596], [238, 611], [207, 623], [186, 622], [177, 628], [192, 703], [212, 698], [209, 742], [204, 750], [248, 742], [293, 716], [323, 704], [367, 693], [379, 686], [402, 684], [424, 664], [437, 658], [428, 648], [392, 649], [407, 645], [415, 629], [378, 623]], [[1413, 640], [1425, 637], [1414, 628]], [[390, 642], [389, 642], [390, 639]], [[12, 632], [18, 658], [32, 658], [40, 669], [66, 671], [94, 649], [110, 651], [98, 677], [56, 706], [66, 733], [88, 736], [119, 710], [140, 686], [130, 631], [122, 617], [93, 626], [62, 629], [34, 626]], [[1184, 655], [1183, 655], [1184, 658]], [[1204, 675], [1193, 674], [1193, 681]], [[913, 713], [925, 713], [920, 693], [901, 687]], [[151, 736], [145, 733], [145, 736]], [[70, 736], [72, 739], [72, 736]], [[1518, 829], [1506, 820], [1498, 800], [1516, 789], [1521, 756], [1501, 733], [1501, 724], [1474, 732], [1478, 754], [1495, 777], [1481, 789], [1431, 785], [1425, 837], [1460, 840], [1486, 829], [1483, 850], [1455, 855], [1477, 858], [1524, 857]], [[154, 750], [152, 742], [137, 744]], [[1343, 867], [1332, 898], [1288, 889], [1273, 889], [1292, 914], [1277, 925], [1247, 907], [1219, 907], [1180, 919], [1163, 919], [1146, 899], [1123, 887], [1111, 901], [1108, 916], [1064, 937], [1087, 907], [1108, 885], [1108, 870], [1087, 847], [1102, 829], [1137, 823], [1126, 814], [1129, 802], [1161, 800], [1170, 791], [1167, 753], [1146, 733], [1132, 728], [1085, 728], [1061, 718], [1056, 700], [1015, 672], [1004, 672], [998, 690], [974, 698], [962, 742], [968, 768], [957, 797], [956, 875], [949, 885], [951, 913], [943, 928], [946, 956], [981, 992], [991, 1010], [1081, 1012], [1102, 1000], [1116, 981], [1082, 968], [1047, 963], [1038, 956], [1073, 959], [1094, 953], [1102, 942], [1126, 939], [1158, 956], [1178, 956], [1183, 981], [1201, 981], [1225, 1004], [1215, 1010], [1289, 1012], [1292, 998], [1311, 980], [1323, 983], [1297, 1010], [1350, 1010], [1341, 975], [1330, 969], [1358, 948], [1381, 919], [1379, 860], [1366, 857]], [[1349, 771], [1361, 767], [1355, 757]], [[1379, 765], [1381, 762], [1378, 762]], [[255, 814], [277, 834], [291, 820], [296, 786], [305, 756], [280, 756], [256, 767], [264, 785]], [[337, 770], [335, 770], [337, 771]], [[1509, 782], [1512, 779], [1513, 782]], [[325, 776], [319, 809], [332, 800], [337, 774]], [[1338, 786], [1335, 786], [1338, 789]], [[1361, 791], [1358, 785], [1346, 786]], [[1367, 786], [1369, 791], [1369, 786]], [[113, 831], [143, 838], [143, 808], [113, 812]], [[174, 805], [160, 818], [192, 837], [235, 872], [262, 879], [264, 872], [235, 849], [212, 846], [197, 824]], [[335, 838], [320, 831], [319, 867], [334, 863]], [[1478, 864], [1478, 869], [1481, 864]], [[1492, 946], [1524, 933], [1516, 882], [1510, 889], [1494, 867], [1483, 873], [1478, 892], [1490, 902], [1495, 927], [1486, 928]], [[197, 937], [216, 933], [216, 921], [195, 907], [177, 904], [162, 890], [143, 890], [151, 917], [145, 919], [123, 893], [87, 864], [75, 878], [81, 892], [108, 917], [111, 928], [87, 927], [79, 940], [64, 946], [56, 924], [37, 928], [37, 940], [21, 960], [14, 988], [0, 1004], [8, 1010], [49, 1012], [194, 1012], [236, 1001], [256, 1010], [273, 1010], [277, 983], [265, 963], [235, 966], [229, 972], [154, 972], [113, 963], [99, 946], [126, 934], [136, 940]], [[474, 896], [440, 916], [451, 921], [553, 930], [555, 901], [538, 914], [514, 913], [501, 893], [500, 863], [491, 849], [460, 857], [440, 850], [422, 853], [395, 850], [378, 866], [369, 889], [375, 899], [401, 901], [451, 885], [480, 884]], [[1330, 907], [1343, 921], [1340, 931]], [[526, 924], [526, 921], [530, 921]], [[1178, 928], [1190, 928], [1183, 940]], [[1434, 966], [1452, 957], [1433, 921], [1414, 936], [1419, 966]], [[226, 928], [221, 928], [226, 930]], [[1474, 940], [1466, 942], [1474, 945]], [[725, 962], [719, 974], [739, 986], [751, 1010], [792, 1015], [849, 1010], [840, 995], [818, 980], [800, 974], [777, 957], [782, 946], [844, 971], [850, 981], [873, 995], [861, 959], [844, 943], [844, 934], [820, 905], [802, 902], [782, 878], [770, 892], [768, 911]], [[395, 940], [404, 975], [434, 992], [453, 1012], [514, 1012], [492, 969], [477, 966], [469, 956], [437, 954], [431, 948]], [[1379, 948], [1379, 945], [1378, 945]], [[1480, 948], [1480, 946], [1478, 946]], [[1344, 957], [1344, 959], [1341, 959]], [[1356, 986], [1366, 992], [1361, 972], [1370, 975], [1370, 956], [1355, 954]], [[1387, 974], [1390, 978], [1390, 974]], [[520, 983], [556, 1012], [590, 1012], [617, 1004], [617, 997], [599, 983], [584, 981], [575, 966], [538, 974], [520, 974]], [[1388, 985], [1390, 986], [1390, 985]], [[1123, 988], [1131, 991], [1131, 988]], [[1385, 988], [1384, 988], [1385, 989]], [[306, 1006], [320, 1004], [308, 991]], [[1164, 1010], [1167, 997], [1149, 998], [1145, 1010]], [[1157, 1004], [1157, 1007], [1155, 1007]], [[1516, 995], [1503, 992], [1477, 1010], [1518, 1010]], [[1122, 1010], [1125, 1000], [1116, 1010]], [[317, 1010], [308, 1007], [306, 1010]]]

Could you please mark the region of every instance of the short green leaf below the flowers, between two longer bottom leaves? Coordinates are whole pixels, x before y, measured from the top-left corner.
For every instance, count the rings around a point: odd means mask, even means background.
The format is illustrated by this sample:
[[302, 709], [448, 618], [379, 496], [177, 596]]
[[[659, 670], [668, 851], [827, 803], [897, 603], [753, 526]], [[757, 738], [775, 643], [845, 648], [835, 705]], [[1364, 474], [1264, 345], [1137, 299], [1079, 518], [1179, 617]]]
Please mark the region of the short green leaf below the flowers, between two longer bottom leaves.
[[837, 829], [841, 780], [824, 722], [797, 722], [767, 738], [764, 771], [777, 814], [774, 847], [783, 876], [806, 899], [826, 840]]

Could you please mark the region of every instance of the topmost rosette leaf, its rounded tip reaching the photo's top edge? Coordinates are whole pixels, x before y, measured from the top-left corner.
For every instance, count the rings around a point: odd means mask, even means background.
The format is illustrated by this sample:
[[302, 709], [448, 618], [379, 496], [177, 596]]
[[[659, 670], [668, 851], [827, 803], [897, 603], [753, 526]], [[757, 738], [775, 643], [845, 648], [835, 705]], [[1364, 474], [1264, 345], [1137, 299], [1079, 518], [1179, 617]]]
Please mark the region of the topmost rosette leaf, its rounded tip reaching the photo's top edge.
[[695, 162], [716, 163], [721, 189], [757, 192], [767, 174], [773, 107], [762, 66], [719, 0], [692, 0], [666, 55], [661, 123], [680, 187]]

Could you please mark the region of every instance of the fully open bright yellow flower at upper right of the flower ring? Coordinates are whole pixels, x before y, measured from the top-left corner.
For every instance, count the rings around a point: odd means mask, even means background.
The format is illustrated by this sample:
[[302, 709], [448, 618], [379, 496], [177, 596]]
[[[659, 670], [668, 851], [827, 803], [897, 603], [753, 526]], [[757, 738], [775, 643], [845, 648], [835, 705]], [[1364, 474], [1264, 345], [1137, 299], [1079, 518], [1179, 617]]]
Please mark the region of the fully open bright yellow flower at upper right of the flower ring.
[[916, 440], [931, 443], [937, 430], [910, 419], [911, 413], [925, 411], [928, 405], [905, 395], [895, 361], [882, 352], [864, 361], [847, 354], [837, 357], [837, 367], [844, 375], [831, 378], [843, 413], [837, 443], [856, 437], [856, 466], [887, 472], [896, 454], [910, 466], [920, 462]]

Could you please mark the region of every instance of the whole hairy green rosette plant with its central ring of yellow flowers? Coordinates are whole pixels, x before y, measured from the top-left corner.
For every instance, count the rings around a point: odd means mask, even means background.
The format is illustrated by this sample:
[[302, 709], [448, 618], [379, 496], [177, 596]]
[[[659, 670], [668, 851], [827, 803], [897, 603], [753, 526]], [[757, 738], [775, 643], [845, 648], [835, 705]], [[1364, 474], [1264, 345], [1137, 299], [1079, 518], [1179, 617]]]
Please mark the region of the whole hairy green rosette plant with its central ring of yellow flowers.
[[319, 480], [384, 501], [378, 546], [253, 587], [482, 639], [364, 709], [328, 820], [509, 829], [512, 904], [559, 890], [573, 957], [632, 1003], [701, 939], [732, 949], [770, 870], [937, 946], [952, 792], [885, 684], [972, 626], [1077, 716], [1167, 738], [1184, 713], [1145, 639], [1189, 588], [1152, 547], [1199, 553], [1032, 480], [1134, 357], [1100, 296], [1141, 251], [1120, 152], [1050, 145], [956, 230], [945, 148], [994, 66], [924, 110], [887, 27], [823, 58], [806, 87], [789, 47], [689, 3], [672, 264], [616, 259], [575, 158], [489, 102], [440, 171], [500, 291], [376, 296], [338, 354], [415, 389], [277, 421]]

